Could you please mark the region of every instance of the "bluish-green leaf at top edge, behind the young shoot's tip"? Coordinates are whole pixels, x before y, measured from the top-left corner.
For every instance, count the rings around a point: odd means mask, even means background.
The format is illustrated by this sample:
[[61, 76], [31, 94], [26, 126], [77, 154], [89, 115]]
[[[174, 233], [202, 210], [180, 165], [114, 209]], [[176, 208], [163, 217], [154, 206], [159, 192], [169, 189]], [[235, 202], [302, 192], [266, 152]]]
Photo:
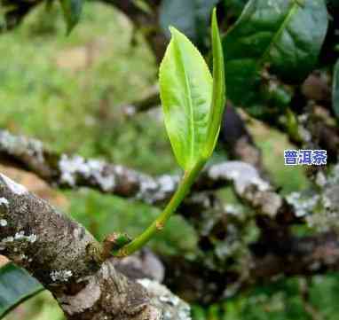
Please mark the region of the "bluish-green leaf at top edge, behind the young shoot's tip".
[[208, 38], [210, 13], [218, 0], [162, 0], [160, 23], [169, 35], [169, 26], [177, 27], [201, 47]]

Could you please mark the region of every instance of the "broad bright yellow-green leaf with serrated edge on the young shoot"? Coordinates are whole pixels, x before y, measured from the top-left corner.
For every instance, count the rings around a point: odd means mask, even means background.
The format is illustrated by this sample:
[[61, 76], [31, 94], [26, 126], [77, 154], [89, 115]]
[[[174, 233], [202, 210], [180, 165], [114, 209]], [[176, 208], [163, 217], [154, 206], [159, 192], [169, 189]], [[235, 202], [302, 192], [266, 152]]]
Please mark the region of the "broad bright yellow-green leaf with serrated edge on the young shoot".
[[212, 100], [212, 76], [200, 52], [177, 29], [171, 28], [160, 66], [160, 92], [165, 126], [177, 162], [192, 168], [206, 143]]

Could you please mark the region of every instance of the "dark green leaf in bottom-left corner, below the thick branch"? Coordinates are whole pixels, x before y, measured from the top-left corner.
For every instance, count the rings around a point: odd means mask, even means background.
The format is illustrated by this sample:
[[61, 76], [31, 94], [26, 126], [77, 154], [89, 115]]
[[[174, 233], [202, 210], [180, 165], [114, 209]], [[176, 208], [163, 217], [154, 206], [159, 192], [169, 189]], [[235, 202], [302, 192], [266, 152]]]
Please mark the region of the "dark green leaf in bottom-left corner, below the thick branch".
[[43, 291], [43, 285], [13, 263], [0, 268], [0, 318], [20, 302]]

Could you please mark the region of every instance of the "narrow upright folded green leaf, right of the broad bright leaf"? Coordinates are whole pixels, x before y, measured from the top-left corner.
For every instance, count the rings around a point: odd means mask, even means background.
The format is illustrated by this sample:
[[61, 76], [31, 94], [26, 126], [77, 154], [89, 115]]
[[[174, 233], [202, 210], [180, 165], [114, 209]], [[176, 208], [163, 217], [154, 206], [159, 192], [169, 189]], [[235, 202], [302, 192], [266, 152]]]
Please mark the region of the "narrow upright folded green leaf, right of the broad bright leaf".
[[206, 159], [212, 154], [217, 144], [220, 123], [225, 107], [225, 66], [223, 46], [221, 44], [219, 28], [217, 27], [217, 11], [212, 14], [212, 51], [213, 51], [213, 95], [209, 111], [209, 129], [205, 148]]

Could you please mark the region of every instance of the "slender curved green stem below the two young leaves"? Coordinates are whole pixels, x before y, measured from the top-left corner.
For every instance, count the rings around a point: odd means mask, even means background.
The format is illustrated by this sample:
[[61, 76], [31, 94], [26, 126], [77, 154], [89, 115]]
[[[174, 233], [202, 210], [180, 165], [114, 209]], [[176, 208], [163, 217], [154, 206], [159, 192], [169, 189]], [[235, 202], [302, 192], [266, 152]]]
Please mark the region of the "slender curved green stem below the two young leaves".
[[177, 186], [177, 191], [173, 194], [169, 204], [162, 211], [162, 214], [159, 215], [143, 233], [114, 254], [115, 256], [123, 257], [135, 253], [141, 247], [145, 246], [146, 243], [153, 238], [155, 233], [163, 229], [169, 217], [176, 212], [177, 207], [183, 199], [185, 199], [185, 196], [190, 191], [195, 178], [199, 175], [205, 162], [206, 161], [201, 160], [191, 170], [185, 172], [185, 175]]

